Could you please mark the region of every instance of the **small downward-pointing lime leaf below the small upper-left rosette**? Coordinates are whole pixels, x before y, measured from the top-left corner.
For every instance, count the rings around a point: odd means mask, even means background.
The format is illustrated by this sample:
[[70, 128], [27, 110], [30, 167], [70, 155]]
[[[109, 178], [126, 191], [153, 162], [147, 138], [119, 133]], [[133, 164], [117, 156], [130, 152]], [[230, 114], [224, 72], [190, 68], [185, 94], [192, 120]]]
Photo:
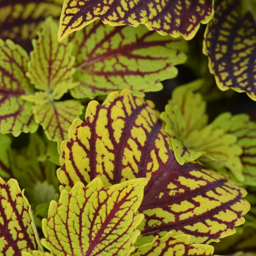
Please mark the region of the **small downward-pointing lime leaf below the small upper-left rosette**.
[[83, 106], [79, 101], [53, 101], [35, 105], [35, 121], [42, 125], [49, 140], [58, 143], [67, 139], [67, 131], [72, 121], [82, 114]]

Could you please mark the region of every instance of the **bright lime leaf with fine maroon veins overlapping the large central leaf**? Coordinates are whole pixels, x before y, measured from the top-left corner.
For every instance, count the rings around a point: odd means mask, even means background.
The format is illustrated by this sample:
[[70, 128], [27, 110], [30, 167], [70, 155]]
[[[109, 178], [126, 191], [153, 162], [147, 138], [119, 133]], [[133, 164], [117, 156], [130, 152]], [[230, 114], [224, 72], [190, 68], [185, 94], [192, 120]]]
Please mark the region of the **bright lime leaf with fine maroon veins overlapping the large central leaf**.
[[100, 178], [86, 187], [77, 182], [52, 201], [43, 219], [45, 239], [53, 255], [130, 255], [140, 232], [143, 214], [136, 214], [143, 199], [146, 178], [103, 188]]

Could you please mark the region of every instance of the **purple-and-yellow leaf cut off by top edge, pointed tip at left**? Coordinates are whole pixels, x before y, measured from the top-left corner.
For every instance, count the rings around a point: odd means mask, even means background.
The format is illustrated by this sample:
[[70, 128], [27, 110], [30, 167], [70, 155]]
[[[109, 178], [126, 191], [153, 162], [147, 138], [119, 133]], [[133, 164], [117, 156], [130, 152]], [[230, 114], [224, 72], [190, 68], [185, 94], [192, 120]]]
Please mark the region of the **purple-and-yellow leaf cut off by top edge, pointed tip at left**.
[[80, 30], [97, 19], [117, 26], [129, 24], [137, 27], [145, 24], [150, 30], [173, 37], [182, 35], [191, 39], [200, 23], [212, 18], [212, 0], [193, 2], [191, 0], [132, 0], [132, 1], [93, 1], [65, 0], [60, 17], [59, 40]]

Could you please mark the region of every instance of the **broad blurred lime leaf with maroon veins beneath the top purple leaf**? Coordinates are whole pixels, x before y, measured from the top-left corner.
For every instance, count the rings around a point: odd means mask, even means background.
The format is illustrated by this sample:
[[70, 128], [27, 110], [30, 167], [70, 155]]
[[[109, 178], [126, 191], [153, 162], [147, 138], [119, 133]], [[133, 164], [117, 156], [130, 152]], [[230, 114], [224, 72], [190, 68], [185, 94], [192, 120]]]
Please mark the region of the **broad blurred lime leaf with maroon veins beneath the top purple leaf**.
[[187, 57], [182, 39], [162, 37], [146, 27], [111, 27], [97, 21], [69, 39], [76, 56], [75, 98], [95, 98], [124, 88], [136, 95], [159, 91], [159, 81], [177, 76]]

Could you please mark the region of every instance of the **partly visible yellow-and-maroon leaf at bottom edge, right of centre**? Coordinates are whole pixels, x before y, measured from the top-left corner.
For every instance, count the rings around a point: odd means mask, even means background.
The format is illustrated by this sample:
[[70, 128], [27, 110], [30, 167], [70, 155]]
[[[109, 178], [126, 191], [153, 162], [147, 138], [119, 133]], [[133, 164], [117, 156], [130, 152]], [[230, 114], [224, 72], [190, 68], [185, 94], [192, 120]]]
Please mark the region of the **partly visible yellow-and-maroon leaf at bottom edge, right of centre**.
[[174, 237], [172, 232], [164, 237], [156, 237], [151, 243], [139, 246], [131, 256], [155, 255], [212, 255], [213, 246], [206, 244], [190, 244], [188, 235]]

